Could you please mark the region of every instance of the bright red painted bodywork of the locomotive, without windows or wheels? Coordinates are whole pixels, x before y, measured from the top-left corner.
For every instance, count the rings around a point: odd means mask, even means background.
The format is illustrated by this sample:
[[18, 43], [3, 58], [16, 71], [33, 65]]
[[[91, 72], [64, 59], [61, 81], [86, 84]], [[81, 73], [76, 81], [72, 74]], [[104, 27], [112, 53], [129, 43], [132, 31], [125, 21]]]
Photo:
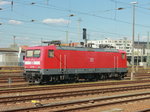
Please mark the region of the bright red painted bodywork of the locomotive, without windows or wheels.
[[[40, 65], [25, 64], [26, 69], [127, 68], [126, 52], [121, 50], [119, 52], [74, 51], [58, 50], [56, 46], [29, 47], [27, 50], [29, 49], [41, 49], [41, 56], [25, 58], [25, 61], [40, 61]], [[55, 56], [49, 58], [48, 50], [52, 49]], [[122, 59], [122, 53], [125, 54], [125, 59]]]

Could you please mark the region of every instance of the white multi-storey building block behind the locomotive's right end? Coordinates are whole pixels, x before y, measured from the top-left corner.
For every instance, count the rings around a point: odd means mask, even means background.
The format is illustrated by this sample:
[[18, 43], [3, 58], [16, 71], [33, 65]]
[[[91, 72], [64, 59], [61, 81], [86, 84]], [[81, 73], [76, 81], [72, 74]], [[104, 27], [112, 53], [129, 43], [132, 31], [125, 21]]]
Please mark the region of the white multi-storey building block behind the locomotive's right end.
[[[87, 41], [88, 44], [91, 44], [93, 48], [101, 48], [101, 46], [112, 46], [113, 48], [124, 50], [127, 53], [127, 59], [129, 64], [131, 64], [132, 57], [132, 41], [127, 40], [127, 38], [112, 40], [106, 38], [104, 40], [90, 40]], [[110, 47], [110, 48], [112, 48]], [[134, 60], [135, 65], [143, 65], [147, 61], [148, 57], [147, 42], [135, 42], [134, 43]]]

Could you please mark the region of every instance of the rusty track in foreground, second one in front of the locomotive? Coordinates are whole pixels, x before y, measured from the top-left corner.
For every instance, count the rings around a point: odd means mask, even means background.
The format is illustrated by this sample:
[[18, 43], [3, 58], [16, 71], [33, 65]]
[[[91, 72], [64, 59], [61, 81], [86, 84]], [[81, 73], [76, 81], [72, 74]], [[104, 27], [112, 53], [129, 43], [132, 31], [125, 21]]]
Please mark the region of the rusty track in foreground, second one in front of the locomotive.
[[59, 93], [45, 93], [45, 94], [34, 94], [34, 95], [0, 97], [0, 104], [26, 102], [26, 101], [31, 101], [31, 100], [44, 100], [44, 99], [48, 100], [48, 99], [56, 99], [56, 98], [79, 97], [79, 96], [97, 95], [97, 94], [104, 94], [104, 93], [140, 90], [140, 89], [150, 89], [150, 84], [127, 86], [127, 87], [78, 90], [78, 91], [59, 92]]

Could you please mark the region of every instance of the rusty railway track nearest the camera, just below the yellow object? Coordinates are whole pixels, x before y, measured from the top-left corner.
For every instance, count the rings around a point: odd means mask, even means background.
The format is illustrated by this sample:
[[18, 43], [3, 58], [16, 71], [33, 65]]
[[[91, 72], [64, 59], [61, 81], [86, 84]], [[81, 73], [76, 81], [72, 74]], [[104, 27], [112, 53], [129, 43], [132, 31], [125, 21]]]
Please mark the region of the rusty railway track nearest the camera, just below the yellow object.
[[[92, 109], [96, 107], [110, 106], [115, 104], [131, 103], [140, 100], [150, 99], [150, 92], [141, 92], [136, 94], [123, 94], [115, 96], [88, 98], [82, 100], [66, 101], [61, 103], [39, 104], [36, 107], [26, 107], [6, 110], [5, 112], [26, 112], [26, 111], [42, 111], [51, 112], [70, 112]], [[143, 111], [145, 112], [145, 111]]]

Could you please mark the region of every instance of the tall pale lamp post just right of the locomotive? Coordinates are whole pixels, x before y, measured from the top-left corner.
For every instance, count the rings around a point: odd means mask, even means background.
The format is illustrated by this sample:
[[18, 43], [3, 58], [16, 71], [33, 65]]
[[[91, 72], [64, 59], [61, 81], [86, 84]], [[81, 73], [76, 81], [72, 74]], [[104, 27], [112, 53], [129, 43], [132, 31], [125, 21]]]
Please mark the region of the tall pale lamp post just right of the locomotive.
[[133, 6], [133, 12], [132, 12], [132, 58], [131, 58], [131, 62], [132, 62], [132, 71], [131, 71], [131, 80], [134, 79], [134, 35], [135, 35], [135, 6], [137, 4], [137, 2], [131, 2], [132, 6]]

